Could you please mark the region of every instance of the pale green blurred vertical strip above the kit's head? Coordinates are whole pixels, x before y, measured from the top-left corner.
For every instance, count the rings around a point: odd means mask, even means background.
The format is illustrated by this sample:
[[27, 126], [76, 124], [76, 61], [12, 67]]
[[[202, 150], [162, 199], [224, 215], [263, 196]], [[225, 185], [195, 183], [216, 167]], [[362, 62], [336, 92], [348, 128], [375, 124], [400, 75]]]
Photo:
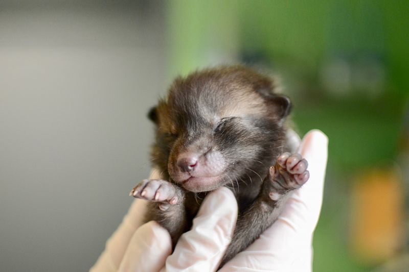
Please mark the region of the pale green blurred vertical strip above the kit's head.
[[236, 1], [169, 1], [167, 79], [200, 67], [237, 60]]

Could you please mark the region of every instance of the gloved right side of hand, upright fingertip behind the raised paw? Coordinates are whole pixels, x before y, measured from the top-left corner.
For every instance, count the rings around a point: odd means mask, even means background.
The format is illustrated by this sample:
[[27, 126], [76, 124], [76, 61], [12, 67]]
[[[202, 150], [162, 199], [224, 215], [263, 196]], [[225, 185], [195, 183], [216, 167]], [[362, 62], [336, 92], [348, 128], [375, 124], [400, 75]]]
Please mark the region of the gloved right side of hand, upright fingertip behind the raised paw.
[[[299, 258], [298, 249], [305, 249], [301, 254], [311, 258], [311, 236], [322, 204], [327, 146], [328, 138], [321, 131], [305, 135], [300, 152], [309, 164], [309, 181], [291, 195], [277, 221], [221, 271], [291, 271]], [[308, 263], [307, 259], [299, 261]], [[309, 270], [311, 266], [304, 266], [300, 271]]]

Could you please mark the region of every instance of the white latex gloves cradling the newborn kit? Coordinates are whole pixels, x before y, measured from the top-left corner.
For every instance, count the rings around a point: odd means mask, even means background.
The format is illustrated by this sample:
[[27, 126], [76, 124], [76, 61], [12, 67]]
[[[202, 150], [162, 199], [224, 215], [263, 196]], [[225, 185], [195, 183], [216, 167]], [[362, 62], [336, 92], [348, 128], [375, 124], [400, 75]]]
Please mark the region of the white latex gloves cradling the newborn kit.
[[[321, 131], [305, 135], [299, 152], [308, 161], [308, 182], [292, 193], [277, 221], [220, 271], [311, 271], [311, 242], [322, 205], [327, 146], [328, 138]], [[144, 209], [144, 201], [134, 201], [91, 271], [217, 269], [237, 219], [236, 199], [229, 189], [220, 188], [206, 197], [192, 229], [180, 237], [173, 254], [164, 228], [154, 221], [142, 225]]]

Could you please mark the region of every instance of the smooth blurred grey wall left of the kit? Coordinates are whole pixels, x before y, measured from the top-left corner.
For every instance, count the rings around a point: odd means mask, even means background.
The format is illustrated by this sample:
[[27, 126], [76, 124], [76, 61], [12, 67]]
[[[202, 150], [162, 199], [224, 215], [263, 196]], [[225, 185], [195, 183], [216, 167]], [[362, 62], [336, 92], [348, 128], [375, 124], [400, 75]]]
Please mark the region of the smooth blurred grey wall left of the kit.
[[1, 271], [88, 270], [149, 172], [161, 2], [63, 3], [0, 2]]

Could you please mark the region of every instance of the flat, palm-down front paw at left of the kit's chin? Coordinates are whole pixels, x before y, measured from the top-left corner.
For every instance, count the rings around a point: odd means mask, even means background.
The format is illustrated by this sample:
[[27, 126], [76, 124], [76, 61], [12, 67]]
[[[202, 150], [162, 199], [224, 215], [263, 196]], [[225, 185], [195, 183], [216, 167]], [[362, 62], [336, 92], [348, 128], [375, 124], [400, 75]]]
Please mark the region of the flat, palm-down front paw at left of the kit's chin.
[[[180, 188], [166, 180], [143, 180], [133, 187], [130, 196], [163, 204], [178, 204], [181, 202]], [[162, 207], [165, 206], [160, 206]]]

